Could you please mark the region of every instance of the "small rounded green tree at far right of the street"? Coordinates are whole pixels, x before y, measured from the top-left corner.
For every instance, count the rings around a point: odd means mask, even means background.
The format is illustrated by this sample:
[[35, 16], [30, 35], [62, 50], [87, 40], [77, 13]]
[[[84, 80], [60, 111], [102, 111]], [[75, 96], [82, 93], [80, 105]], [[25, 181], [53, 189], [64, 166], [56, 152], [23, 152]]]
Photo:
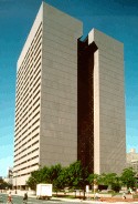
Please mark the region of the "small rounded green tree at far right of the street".
[[135, 187], [137, 183], [136, 172], [132, 170], [132, 167], [125, 169], [121, 173], [120, 180], [123, 185], [126, 185], [128, 188]]

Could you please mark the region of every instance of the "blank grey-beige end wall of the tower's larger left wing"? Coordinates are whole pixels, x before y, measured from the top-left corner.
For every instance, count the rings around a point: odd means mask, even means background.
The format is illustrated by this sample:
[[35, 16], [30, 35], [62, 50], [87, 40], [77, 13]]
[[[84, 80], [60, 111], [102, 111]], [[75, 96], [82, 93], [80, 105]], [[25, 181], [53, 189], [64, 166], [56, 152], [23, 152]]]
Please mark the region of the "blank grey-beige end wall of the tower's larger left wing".
[[82, 22], [43, 4], [40, 163], [77, 160], [77, 38]]

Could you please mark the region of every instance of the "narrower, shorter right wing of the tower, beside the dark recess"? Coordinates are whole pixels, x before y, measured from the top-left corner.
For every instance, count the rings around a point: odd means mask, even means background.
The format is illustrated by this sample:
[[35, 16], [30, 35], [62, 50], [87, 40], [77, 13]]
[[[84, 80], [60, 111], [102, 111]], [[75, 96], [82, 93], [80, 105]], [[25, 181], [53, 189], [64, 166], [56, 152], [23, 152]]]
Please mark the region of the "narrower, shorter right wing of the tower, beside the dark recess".
[[124, 45], [93, 29], [94, 53], [94, 172], [120, 173], [126, 164]]

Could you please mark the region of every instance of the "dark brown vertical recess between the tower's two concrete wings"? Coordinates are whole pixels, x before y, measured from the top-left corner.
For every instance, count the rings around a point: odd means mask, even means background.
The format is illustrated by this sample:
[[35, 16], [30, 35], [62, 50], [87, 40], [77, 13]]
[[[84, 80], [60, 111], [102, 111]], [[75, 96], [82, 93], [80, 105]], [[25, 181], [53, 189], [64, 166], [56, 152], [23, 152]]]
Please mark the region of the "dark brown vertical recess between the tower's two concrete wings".
[[77, 43], [77, 160], [94, 172], [94, 52], [93, 42]]

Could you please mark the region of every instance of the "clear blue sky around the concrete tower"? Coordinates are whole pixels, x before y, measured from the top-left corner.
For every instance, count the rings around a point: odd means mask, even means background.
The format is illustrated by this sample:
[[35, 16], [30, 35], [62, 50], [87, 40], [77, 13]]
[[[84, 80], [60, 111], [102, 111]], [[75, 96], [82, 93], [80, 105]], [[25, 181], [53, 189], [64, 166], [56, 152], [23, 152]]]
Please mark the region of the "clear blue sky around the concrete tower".
[[[41, 0], [0, 0], [0, 176], [13, 165], [17, 61]], [[125, 51], [127, 152], [138, 152], [138, 1], [45, 0], [79, 19], [84, 35], [96, 28], [121, 41]]]

